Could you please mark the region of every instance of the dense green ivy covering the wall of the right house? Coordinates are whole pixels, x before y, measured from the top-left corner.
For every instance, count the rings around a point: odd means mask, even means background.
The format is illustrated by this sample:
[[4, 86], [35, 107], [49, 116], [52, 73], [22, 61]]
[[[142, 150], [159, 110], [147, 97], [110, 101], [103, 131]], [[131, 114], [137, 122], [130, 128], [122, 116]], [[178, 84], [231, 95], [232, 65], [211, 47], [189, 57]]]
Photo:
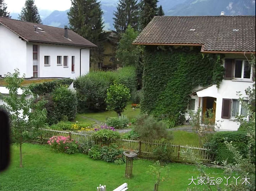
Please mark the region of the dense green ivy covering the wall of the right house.
[[220, 84], [224, 75], [222, 57], [203, 55], [198, 47], [146, 46], [142, 111], [177, 120], [198, 85]]

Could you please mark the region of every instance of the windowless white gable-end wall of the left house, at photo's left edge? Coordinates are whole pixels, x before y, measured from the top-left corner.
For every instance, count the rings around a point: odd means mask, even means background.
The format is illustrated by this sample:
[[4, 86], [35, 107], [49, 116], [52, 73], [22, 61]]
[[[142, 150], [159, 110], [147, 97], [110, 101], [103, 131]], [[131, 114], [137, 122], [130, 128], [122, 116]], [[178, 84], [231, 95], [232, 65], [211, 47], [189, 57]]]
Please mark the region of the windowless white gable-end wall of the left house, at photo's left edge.
[[[26, 74], [26, 41], [0, 24], [0, 75], [14, 72], [18, 68]], [[26, 76], [31, 77], [31, 76]]]

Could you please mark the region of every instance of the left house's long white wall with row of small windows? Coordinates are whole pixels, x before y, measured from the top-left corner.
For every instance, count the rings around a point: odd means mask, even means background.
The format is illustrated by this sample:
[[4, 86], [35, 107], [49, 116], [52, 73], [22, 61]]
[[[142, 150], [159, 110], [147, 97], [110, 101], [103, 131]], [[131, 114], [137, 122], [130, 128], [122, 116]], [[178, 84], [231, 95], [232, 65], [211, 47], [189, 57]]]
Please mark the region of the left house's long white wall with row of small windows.
[[[38, 44], [38, 77], [69, 77], [75, 79], [80, 75], [80, 47]], [[81, 51], [81, 75], [89, 72], [90, 50]], [[50, 56], [50, 66], [44, 65], [44, 56]], [[57, 65], [57, 56], [62, 56], [62, 65]], [[64, 56], [68, 56], [68, 67], [63, 66]], [[75, 56], [75, 72], [71, 72], [71, 57]]]

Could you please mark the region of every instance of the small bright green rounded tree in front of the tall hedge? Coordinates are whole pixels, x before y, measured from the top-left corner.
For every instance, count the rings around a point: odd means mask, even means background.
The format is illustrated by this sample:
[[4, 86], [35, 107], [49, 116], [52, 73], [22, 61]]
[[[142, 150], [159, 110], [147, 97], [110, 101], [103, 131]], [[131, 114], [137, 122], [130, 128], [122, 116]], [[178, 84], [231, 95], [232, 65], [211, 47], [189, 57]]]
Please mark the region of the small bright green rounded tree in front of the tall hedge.
[[130, 90], [123, 84], [116, 84], [114, 82], [107, 89], [107, 109], [114, 110], [118, 116], [121, 116], [121, 112], [124, 111], [127, 105], [127, 101], [130, 100]]

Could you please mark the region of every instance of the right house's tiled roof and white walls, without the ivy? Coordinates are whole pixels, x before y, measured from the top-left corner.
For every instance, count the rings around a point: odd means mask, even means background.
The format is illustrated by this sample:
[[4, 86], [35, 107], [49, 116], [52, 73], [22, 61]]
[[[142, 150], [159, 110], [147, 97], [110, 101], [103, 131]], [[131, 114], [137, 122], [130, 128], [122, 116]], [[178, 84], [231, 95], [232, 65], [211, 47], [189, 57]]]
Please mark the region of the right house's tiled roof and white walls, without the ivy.
[[221, 131], [239, 128], [236, 114], [247, 113], [237, 92], [246, 97], [245, 89], [255, 83], [253, 68], [247, 61], [251, 54], [255, 55], [255, 16], [156, 16], [133, 44], [199, 46], [202, 53], [222, 54], [225, 76], [220, 87], [213, 84], [195, 89], [188, 109], [197, 111], [201, 107], [201, 115], [213, 109], [213, 120], [221, 125]]

